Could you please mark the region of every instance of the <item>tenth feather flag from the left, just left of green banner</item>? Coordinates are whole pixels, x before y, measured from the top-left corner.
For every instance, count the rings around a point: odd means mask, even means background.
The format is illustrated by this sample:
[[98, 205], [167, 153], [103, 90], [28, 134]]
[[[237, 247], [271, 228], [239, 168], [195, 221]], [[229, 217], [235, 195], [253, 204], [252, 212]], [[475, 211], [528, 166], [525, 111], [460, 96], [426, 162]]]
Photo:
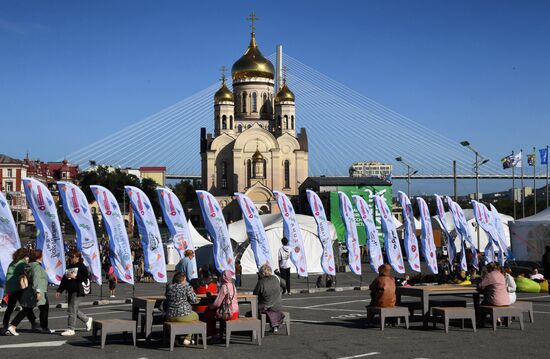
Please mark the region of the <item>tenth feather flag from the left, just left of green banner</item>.
[[313, 213], [313, 218], [317, 222], [317, 236], [319, 241], [323, 246], [323, 253], [321, 255], [321, 268], [323, 272], [329, 275], [336, 275], [336, 267], [334, 264], [334, 253], [332, 250], [332, 235], [330, 234], [330, 226], [327, 221], [327, 215], [325, 213], [325, 207], [321, 202], [321, 199], [312, 190], [306, 190], [307, 200], [309, 202], [309, 207], [311, 208], [311, 213]]

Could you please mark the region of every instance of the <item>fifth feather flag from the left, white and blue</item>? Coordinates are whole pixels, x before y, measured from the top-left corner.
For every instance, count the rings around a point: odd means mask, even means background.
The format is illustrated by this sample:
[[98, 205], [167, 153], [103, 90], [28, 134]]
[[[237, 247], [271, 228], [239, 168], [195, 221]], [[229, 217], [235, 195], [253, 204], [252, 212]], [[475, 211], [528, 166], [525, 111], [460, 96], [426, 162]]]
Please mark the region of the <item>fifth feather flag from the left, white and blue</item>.
[[124, 186], [126, 194], [132, 204], [134, 217], [141, 236], [145, 271], [153, 277], [155, 282], [166, 283], [166, 261], [164, 246], [160, 237], [157, 217], [151, 206], [151, 201], [142, 190], [133, 186]]

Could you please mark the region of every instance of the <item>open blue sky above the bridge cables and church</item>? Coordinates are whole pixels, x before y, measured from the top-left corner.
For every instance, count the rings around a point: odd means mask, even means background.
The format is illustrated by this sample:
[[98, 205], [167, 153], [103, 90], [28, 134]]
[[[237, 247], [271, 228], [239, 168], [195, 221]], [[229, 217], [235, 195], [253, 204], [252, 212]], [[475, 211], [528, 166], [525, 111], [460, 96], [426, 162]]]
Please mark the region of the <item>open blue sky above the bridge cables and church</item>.
[[264, 54], [483, 154], [550, 142], [548, 1], [4, 0], [0, 153], [56, 160], [214, 83], [253, 10]]

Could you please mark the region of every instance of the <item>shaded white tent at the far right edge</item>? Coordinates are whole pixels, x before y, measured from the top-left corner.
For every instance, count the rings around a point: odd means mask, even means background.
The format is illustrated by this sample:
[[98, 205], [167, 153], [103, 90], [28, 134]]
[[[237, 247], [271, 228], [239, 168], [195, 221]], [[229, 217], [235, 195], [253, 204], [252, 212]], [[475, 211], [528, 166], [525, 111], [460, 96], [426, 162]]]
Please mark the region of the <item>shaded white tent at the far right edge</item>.
[[540, 261], [550, 246], [550, 208], [510, 223], [512, 252], [518, 260]]

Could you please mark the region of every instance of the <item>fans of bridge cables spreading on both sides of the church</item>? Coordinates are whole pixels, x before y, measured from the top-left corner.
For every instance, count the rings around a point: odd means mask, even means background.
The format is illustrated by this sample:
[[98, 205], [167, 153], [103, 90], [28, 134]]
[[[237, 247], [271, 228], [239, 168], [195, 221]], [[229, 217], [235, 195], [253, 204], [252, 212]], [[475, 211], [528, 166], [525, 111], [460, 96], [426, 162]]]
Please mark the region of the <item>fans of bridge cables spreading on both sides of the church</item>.
[[[275, 61], [275, 54], [269, 56]], [[347, 175], [353, 162], [375, 160], [396, 165], [404, 156], [415, 179], [475, 178], [474, 156], [456, 140], [433, 131], [357, 91], [284, 55], [287, 82], [296, 95], [296, 127], [305, 127], [310, 175]], [[67, 156], [80, 165], [166, 166], [172, 177], [200, 175], [200, 128], [212, 130], [213, 84], [196, 94]], [[404, 171], [403, 171], [404, 172]], [[480, 167], [480, 178], [511, 178], [498, 159]], [[519, 177], [516, 171], [516, 177]], [[527, 171], [526, 171], [527, 172]], [[540, 177], [539, 177], [540, 176]], [[170, 175], [168, 176], [170, 178]], [[393, 176], [406, 178], [407, 176]], [[543, 169], [538, 178], [546, 178]], [[524, 178], [533, 178], [525, 173]]]

